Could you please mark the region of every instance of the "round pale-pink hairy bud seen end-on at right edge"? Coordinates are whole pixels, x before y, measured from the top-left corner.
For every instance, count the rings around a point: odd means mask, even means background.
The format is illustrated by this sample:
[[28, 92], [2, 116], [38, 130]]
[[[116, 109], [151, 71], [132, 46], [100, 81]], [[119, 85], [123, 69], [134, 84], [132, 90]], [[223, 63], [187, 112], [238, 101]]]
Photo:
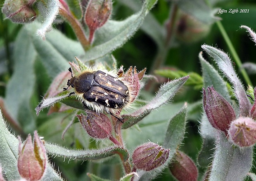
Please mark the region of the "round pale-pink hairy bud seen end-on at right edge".
[[256, 143], [256, 122], [249, 117], [240, 117], [231, 123], [228, 135], [237, 146], [253, 146]]

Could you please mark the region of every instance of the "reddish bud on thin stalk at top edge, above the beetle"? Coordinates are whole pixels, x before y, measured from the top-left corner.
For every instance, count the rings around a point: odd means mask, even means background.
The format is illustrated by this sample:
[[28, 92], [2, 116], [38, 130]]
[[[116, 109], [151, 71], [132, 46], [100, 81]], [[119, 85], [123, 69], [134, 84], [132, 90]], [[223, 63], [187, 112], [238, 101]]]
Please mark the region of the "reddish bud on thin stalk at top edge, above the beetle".
[[85, 12], [85, 23], [89, 27], [89, 42], [92, 42], [94, 32], [97, 28], [103, 26], [112, 11], [111, 0], [90, 0]]

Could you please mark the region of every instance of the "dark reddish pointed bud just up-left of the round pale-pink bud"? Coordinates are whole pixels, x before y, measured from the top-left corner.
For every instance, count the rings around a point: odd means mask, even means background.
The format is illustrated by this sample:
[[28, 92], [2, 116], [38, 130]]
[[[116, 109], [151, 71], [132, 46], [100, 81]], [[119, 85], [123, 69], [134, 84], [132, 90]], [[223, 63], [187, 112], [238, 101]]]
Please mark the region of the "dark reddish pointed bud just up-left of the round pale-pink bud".
[[235, 110], [213, 87], [203, 90], [204, 110], [211, 125], [228, 134], [230, 123], [235, 120]]

